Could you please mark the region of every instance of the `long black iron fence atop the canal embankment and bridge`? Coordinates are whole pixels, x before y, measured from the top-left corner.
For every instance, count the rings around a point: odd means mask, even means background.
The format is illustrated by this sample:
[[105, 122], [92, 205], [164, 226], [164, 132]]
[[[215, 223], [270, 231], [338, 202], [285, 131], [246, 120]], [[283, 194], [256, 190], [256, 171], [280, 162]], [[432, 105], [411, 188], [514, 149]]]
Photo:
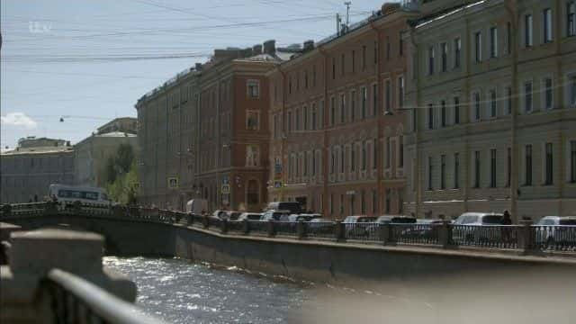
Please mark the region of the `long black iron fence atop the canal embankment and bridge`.
[[156, 208], [34, 202], [3, 205], [0, 220], [43, 217], [50, 213], [92, 218], [158, 222], [193, 226], [235, 235], [331, 239], [382, 245], [419, 245], [429, 247], [477, 247], [518, 252], [576, 253], [576, 226], [456, 225], [448, 222], [430, 224], [380, 224], [375, 222], [343, 223], [336, 221], [262, 221], [220, 220], [182, 211]]

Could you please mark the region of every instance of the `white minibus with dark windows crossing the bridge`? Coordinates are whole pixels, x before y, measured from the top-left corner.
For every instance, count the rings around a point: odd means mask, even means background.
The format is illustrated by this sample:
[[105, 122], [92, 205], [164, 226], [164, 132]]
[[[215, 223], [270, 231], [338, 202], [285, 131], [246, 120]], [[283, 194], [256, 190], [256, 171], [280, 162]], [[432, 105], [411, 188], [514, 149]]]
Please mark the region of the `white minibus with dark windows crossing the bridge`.
[[56, 197], [58, 202], [111, 203], [105, 189], [89, 186], [50, 184], [49, 197]]

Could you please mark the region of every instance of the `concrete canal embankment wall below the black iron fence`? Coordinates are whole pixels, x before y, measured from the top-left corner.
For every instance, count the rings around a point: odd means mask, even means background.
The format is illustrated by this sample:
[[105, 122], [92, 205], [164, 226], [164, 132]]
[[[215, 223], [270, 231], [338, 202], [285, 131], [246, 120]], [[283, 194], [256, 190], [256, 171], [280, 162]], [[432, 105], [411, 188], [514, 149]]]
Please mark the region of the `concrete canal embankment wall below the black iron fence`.
[[415, 275], [556, 266], [554, 258], [518, 257], [473, 251], [418, 247], [381, 247], [292, 238], [220, 235], [203, 229], [150, 222], [49, 216], [10, 220], [23, 229], [67, 223], [73, 229], [101, 233], [106, 252], [121, 256], [184, 257], [252, 272], [320, 282], [381, 280]]

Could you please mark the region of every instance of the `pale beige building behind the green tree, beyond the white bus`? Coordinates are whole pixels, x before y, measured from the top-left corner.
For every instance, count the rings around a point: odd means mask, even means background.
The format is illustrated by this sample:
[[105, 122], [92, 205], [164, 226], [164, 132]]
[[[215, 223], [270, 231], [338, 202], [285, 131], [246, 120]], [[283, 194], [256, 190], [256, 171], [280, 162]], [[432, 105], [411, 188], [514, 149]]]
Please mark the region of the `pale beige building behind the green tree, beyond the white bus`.
[[121, 144], [129, 144], [137, 153], [136, 118], [122, 117], [109, 121], [98, 131], [74, 146], [76, 184], [105, 186], [104, 168]]

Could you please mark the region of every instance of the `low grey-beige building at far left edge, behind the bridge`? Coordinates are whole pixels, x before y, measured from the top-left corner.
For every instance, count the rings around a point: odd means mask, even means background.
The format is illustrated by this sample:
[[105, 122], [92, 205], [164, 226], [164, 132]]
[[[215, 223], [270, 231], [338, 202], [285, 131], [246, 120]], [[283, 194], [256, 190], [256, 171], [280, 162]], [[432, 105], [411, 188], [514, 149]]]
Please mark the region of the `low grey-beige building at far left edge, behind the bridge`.
[[50, 184], [74, 184], [74, 149], [63, 139], [20, 139], [0, 155], [0, 202], [41, 201]]

